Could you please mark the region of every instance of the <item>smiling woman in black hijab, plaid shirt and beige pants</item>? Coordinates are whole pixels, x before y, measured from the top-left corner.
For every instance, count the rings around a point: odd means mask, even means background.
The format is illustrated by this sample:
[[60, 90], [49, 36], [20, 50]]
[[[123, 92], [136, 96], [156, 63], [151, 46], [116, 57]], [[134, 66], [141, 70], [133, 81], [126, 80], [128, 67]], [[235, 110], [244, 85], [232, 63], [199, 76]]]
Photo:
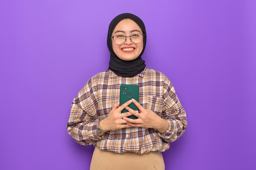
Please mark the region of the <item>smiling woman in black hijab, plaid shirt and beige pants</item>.
[[[186, 113], [168, 78], [141, 59], [146, 29], [139, 17], [115, 17], [107, 44], [109, 68], [90, 78], [74, 98], [67, 131], [77, 143], [95, 146], [91, 170], [164, 170], [161, 152], [184, 133]], [[139, 85], [139, 102], [119, 106], [121, 84]], [[131, 103], [139, 111], [130, 109]]]

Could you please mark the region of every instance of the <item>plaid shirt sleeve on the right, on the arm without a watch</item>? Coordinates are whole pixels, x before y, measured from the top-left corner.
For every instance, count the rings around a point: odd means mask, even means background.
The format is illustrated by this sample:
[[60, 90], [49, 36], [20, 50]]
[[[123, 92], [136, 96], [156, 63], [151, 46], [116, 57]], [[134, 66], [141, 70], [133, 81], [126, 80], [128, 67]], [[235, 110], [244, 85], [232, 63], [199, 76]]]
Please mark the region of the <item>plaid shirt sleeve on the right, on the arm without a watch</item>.
[[158, 132], [158, 135], [166, 142], [174, 142], [182, 136], [187, 127], [186, 112], [168, 78], [166, 78], [163, 90], [162, 118], [168, 121], [169, 127], [166, 133]]

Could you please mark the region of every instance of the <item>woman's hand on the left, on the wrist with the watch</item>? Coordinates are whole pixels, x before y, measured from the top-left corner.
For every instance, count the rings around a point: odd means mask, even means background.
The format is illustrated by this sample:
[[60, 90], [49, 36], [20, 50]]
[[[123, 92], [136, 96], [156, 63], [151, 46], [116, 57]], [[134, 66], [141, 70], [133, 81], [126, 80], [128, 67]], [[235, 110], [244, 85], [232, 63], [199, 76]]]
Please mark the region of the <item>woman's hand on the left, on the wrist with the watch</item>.
[[[108, 117], [101, 120], [100, 127], [103, 132], [106, 131], [115, 131], [117, 129], [123, 129], [132, 127], [127, 125], [126, 120], [123, 119], [123, 116], [121, 114], [121, 111], [125, 109], [128, 105], [132, 103], [132, 100], [128, 100], [123, 105], [119, 106], [119, 102], [113, 105], [112, 110], [108, 114]], [[131, 116], [132, 113], [126, 112], [124, 113], [124, 117]]]

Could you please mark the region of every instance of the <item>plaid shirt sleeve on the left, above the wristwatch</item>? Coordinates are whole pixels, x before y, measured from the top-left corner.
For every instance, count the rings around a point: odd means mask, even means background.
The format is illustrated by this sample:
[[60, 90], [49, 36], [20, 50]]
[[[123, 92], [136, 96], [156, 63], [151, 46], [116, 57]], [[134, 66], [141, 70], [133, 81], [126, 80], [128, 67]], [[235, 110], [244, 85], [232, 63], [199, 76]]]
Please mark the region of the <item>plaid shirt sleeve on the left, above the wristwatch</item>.
[[91, 145], [102, 139], [97, 135], [97, 88], [88, 82], [74, 98], [67, 132], [81, 145]]

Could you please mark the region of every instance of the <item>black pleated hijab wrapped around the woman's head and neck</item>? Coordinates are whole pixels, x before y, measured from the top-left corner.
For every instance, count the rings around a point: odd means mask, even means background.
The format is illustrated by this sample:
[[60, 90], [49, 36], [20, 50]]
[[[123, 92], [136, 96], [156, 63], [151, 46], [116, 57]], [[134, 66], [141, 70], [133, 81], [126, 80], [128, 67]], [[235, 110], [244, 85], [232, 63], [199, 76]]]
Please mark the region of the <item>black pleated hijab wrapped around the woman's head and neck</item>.
[[141, 28], [141, 30], [143, 31], [143, 34], [146, 34], [146, 28], [145, 28], [143, 21], [136, 15], [133, 15], [130, 13], [123, 13], [123, 14], [117, 15], [110, 22], [110, 25], [108, 28], [107, 44], [108, 44], [108, 50], [110, 51], [110, 61], [109, 61], [108, 69], [113, 71], [118, 76], [132, 77], [132, 76], [135, 76], [135, 75], [139, 74], [140, 72], [142, 72], [144, 70], [144, 68], [146, 67], [145, 61], [141, 59], [141, 55], [143, 54], [143, 52], [145, 50], [145, 46], [146, 46], [146, 35], [144, 36], [144, 39], [143, 39], [142, 52], [139, 54], [139, 56], [136, 59], [131, 60], [131, 61], [124, 61], [122, 59], [119, 59], [119, 57], [117, 57], [117, 55], [113, 51], [112, 41], [111, 41], [110, 36], [111, 36], [112, 32], [114, 31], [115, 27], [117, 26], [117, 24], [125, 18], [129, 18], [129, 19], [133, 20], [134, 22], [136, 22], [139, 25], [139, 27]]

